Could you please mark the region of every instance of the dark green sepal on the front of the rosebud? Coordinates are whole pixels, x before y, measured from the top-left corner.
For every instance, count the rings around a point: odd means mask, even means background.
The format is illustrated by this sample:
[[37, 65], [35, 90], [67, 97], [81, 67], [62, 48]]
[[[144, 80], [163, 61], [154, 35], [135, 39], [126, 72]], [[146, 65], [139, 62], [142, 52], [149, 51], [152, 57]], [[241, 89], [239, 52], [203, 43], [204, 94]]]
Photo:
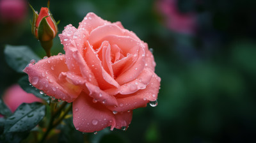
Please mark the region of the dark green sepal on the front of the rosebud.
[[[47, 16], [49, 17], [49, 16]], [[46, 18], [44, 17], [38, 26], [38, 40], [40, 41], [50, 41], [54, 38], [54, 31], [48, 24]]]

